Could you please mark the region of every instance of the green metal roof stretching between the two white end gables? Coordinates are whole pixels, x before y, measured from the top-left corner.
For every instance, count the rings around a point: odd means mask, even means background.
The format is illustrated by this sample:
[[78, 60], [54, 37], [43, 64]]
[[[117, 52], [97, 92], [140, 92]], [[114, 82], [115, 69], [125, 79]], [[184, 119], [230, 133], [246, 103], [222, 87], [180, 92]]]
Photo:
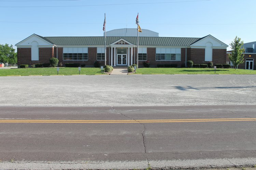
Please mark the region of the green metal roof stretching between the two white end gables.
[[[67, 46], [90, 46], [104, 45], [104, 37], [44, 37], [55, 45]], [[123, 38], [133, 45], [137, 45], [137, 37], [106, 37], [106, 45]], [[139, 37], [141, 46], [189, 46], [200, 38], [185, 37]]]

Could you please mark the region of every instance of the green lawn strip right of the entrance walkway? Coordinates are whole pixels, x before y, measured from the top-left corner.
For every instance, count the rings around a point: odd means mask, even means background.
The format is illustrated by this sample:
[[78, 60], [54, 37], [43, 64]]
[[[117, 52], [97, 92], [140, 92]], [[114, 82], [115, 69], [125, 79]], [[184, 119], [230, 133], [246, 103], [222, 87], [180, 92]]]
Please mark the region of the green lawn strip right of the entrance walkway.
[[[214, 74], [213, 68], [138, 68], [137, 74]], [[256, 74], [256, 70], [216, 69], [216, 74]]]

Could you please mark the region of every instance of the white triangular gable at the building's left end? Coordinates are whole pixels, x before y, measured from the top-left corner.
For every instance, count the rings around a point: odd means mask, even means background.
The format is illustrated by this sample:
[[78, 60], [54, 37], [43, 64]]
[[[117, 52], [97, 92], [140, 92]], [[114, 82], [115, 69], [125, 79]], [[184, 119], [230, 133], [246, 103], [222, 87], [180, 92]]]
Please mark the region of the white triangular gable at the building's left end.
[[39, 36], [33, 34], [29, 36], [28, 38], [20, 41], [17, 46], [17, 48], [26, 48], [31, 47], [31, 44], [33, 41], [36, 41], [38, 43], [38, 47], [53, 47], [53, 44], [49, 43], [48, 41], [44, 40], [43, 38], [40, 38]]

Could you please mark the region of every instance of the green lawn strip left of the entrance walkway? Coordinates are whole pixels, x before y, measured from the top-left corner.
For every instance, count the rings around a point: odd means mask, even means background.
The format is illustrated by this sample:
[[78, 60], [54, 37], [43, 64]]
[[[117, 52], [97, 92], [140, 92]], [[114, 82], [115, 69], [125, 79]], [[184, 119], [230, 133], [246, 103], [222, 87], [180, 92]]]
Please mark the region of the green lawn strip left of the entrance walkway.
[[[57, 68], [18, 68], [18, 69], [0, 69], [0, 76], [7, 75], [56, 75]], [[79, 74], [78, 68], [60, 67], [60, 75]], [[101, 74], [100, 68], [81, 68], [80, 74], [95, 75]]]

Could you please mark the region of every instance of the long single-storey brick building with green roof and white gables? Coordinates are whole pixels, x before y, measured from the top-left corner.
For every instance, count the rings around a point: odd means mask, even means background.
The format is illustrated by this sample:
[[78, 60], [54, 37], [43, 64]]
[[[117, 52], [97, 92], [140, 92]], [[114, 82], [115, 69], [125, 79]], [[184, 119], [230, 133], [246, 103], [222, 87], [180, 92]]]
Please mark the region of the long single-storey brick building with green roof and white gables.
[[[124, 29], [121, 29], [121, 31]], [[134, 30], [137, 32], [137, 30]], [[134, 32], [133, 31], [133, 32]], [[106, 64], [111, 66], [129, 66], [143, 61], [150, 61], [151, 66], [177, 64], [180, 67], [186, 61], [204, 64], [212, 61], [215, 64], [226, 63], [227, 45], [208, 35], [202, 38], [158, 37], [158, 33], [143, 30], [139, 37], [139, 55], [137, 57], [137, 36], [120, 30], [112, 30], [106, 37]], [[106, 35], [108, 32], [106, 33]], [[116, 36], [113, 36], [116, 35]], [[125, 35], [125, 36], [123, 36]], [[137, 35], [137, 33], [136, 33]], [[49, 63], [56, 57], [65, 63], [101, 65], [105, 63], [104, 37], [42, 37], [33, 34], [16, 44], [18, 65]]]

